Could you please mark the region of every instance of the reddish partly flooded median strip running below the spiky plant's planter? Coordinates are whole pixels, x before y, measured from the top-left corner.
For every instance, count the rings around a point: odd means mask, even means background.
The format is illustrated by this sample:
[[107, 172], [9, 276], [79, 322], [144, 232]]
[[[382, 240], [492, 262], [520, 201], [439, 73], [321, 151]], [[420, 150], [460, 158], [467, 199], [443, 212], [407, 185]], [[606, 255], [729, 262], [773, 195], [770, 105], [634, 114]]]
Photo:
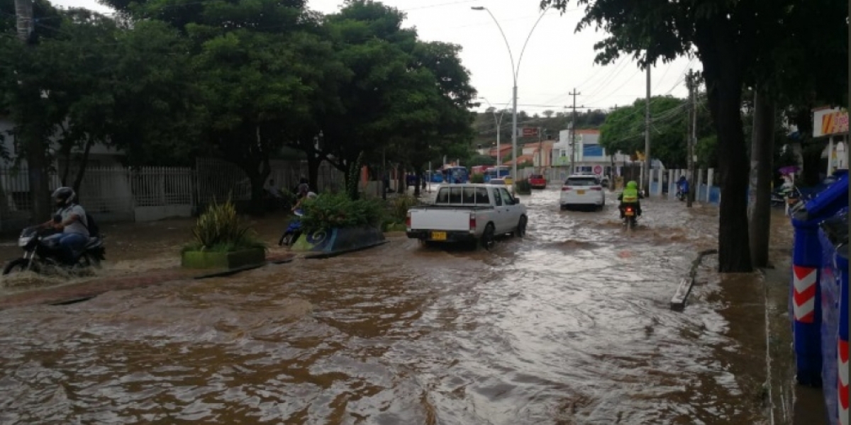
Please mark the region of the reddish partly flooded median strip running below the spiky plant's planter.
[[[285, 262], [294, 257], [295, 254], [291, 253], [271, 254], [266, 258], [266, 264], [261, 267], [272, 263]], [[191, 280], [217, 271], [225, 270], [151, 269], [139, 275], [94, 277], [91, 280], [68, 285], [39, 287], [0, 296], [0, 309], [11, 309], [34, 304], [73, 303], [96, 297], [104, 292], [160, 285], [174, 280]]]

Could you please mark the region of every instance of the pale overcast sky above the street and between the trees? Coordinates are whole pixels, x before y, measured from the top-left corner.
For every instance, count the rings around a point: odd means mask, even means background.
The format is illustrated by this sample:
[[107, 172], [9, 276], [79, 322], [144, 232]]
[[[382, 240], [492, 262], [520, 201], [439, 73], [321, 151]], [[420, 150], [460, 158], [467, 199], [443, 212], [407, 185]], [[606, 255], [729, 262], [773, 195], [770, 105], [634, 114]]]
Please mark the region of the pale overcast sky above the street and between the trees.
[[[340, 0], [309, 0], [309, 7], [323, 13], [340, 8]], [[109, 11], [95, 0], [54, 0], [57, 6], [76, 6]], [[420, 38], [428, 41], [453, 42], [463, 48], [461, 59], [471, 71], [472, 83], [479, 97], [498, 108], [511, 103], [511, 60], [500, 30], [486, 11], [472, 6], [487, 6], [511, 46], [514, 59], [520, 59], [523, 42], [540, 16], [538, 0], [386, 0], [384, 3], [402, 9], [406, 26], [415, 26]], [[547, 12], [529, 38], [517, 79], [517, 105], [529, 113], [552, 110], [568, 111], [573, 103], [568, 93], [580, 92], [576, 105], [606, 109], [631, 104], [643, 98], [646, 74], [629, 59], [613, 65], [594, 65], [594, 43], [603, 39], [593, 29], [574, 33], [583, 11], [570, 2], [568, 12]], [[688, 69], [700, 70], [700, 61], [686, 58], [669, 64], [658, 64], [651, 71], [654, 95], [672, 94], [685, 97], [688, 90], [683, 76]], [[482, 100], [484, 110], [488, 103]]]

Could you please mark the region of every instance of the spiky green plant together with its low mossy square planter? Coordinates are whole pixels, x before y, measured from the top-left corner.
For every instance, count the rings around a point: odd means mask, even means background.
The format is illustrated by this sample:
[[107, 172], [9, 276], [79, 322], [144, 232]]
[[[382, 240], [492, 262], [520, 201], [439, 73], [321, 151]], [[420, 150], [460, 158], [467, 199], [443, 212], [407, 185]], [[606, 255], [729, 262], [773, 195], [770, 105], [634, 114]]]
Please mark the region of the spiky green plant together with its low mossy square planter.
[[231, 200], [210, 203], [198, 217], [192, 236], [181, 255], [184, 267], [233, 269], [266, 259], [266, 244], [243, 226]]

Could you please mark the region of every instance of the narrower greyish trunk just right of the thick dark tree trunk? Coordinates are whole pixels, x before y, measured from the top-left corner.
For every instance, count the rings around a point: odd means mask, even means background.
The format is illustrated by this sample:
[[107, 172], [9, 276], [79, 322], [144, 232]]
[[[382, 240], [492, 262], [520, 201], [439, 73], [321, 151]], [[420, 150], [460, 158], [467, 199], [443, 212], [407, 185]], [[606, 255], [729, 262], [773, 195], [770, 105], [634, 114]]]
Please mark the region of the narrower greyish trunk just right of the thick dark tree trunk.
[[774, 169], [774, 103], [757, 88], [754, 95], [751, 141], [751, 192], [748, 206], [751, 259], [756, 267], [768, 266], [771, 238], [771, 172]]

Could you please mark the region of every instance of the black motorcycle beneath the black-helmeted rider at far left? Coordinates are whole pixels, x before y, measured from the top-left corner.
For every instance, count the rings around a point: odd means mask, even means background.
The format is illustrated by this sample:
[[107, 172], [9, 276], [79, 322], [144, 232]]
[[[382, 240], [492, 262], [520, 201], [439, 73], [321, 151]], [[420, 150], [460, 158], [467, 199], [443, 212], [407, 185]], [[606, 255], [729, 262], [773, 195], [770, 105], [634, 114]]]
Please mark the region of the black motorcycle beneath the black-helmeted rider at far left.
[[62, 249], [58, 241], [44, 241], [48, 236], [60, 233], [56, 229], [43, 229], [38, 226], [27, 227], [20, 232], [18, 246], [23, 248], [24, 256], [6, 264], [3, 275], [15, 271], [32, 271], [39, 274], [50, 274], [51, 270], [79, 271], [90, 268], [100, 268], [100, 262], [105, 260], [106, 248], [102, 238], [89, 237], [89, 241], [80, 252], [74, 252], [71, 263], [63, 261]]

